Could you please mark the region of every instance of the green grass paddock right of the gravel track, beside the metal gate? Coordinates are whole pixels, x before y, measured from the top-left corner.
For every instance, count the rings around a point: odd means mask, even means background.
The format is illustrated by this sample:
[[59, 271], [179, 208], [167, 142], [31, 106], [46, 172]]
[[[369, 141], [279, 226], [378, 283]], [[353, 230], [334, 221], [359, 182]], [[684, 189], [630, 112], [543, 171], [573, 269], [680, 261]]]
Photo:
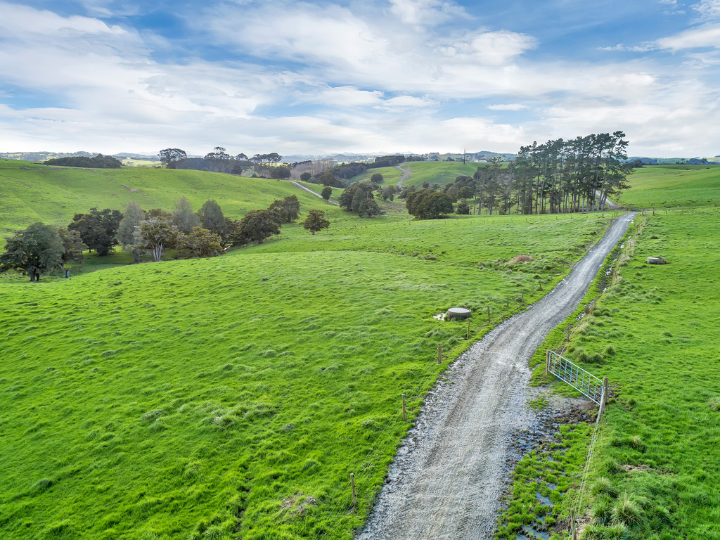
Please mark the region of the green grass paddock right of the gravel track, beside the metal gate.
[[[589, 315], [570, 319], [565, 356], [611, 385], [582, 498], [582, 538], [719, 539], [720, 212], [649, 212], [639, 225], [613, 263], [618, 278]], [[649, 256], [669, 264], [647, 264]], [[588, 300], [597, 294], [591, 290]], [[544, 348], [557, 346], [563, 333], [564, 325], [536, 354], [539, 380]], [[563, 394], [574, 393], [560, 384], [554, 387]], [[514, 539], [523, 524], [552, 531], [577, 506], [592, 429], [560, 431], [549, 451], [518, 466], [498, 538]], [[536, 492], [554, 503], [551, 519]], [[567, 528], [552, 536], [566, 537]]]

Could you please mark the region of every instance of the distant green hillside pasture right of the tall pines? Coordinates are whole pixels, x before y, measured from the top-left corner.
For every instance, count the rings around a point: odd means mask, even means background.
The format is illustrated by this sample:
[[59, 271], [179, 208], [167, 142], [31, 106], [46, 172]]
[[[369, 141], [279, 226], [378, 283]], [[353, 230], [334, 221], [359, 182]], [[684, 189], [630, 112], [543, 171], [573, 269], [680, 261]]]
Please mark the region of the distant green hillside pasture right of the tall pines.
[[636, 168], [619, 202], [635, 208], [720, 204], [720, 166], [664, 165]]

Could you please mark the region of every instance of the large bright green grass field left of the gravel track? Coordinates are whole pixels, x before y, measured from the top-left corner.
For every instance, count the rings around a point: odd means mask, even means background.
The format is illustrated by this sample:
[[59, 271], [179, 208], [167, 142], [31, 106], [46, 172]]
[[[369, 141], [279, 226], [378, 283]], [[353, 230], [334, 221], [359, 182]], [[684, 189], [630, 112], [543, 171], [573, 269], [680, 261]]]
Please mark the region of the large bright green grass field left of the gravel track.
[[539, 298], [605, 222], [343, 218], [219, 258], [6, 279], [0, 536], [351, 538], [410, 426], [400, 394], [412, 420], [437, 344], [469, 343], [433, 315], [472, 307], [482, 335], [488, 306]]

